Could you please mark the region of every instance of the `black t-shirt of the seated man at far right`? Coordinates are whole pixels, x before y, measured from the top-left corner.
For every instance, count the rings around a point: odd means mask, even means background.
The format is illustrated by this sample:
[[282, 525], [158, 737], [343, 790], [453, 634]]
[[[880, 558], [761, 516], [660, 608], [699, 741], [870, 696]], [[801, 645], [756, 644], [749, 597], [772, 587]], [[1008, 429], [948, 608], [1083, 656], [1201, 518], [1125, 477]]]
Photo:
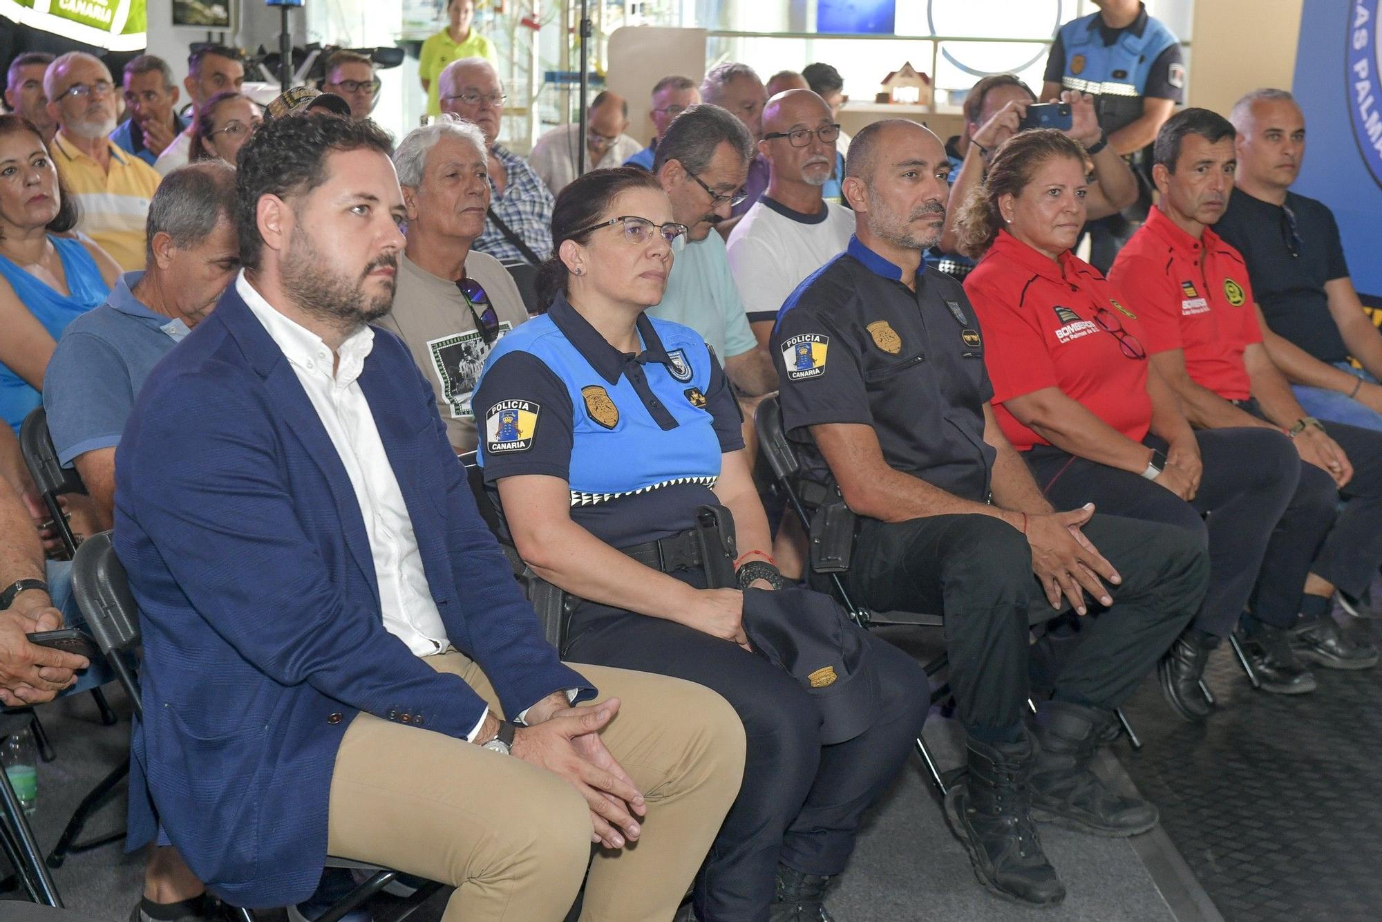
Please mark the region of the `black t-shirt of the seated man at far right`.
[[1324, 283], [1347, 278], [1343, 243], [1324, 202], [1287, 192], [1285, 207], [1242, 189], [1215, 231], [1242, 254], [1262, 317], [1281, 336], [1321, 362], [1343, 362], [1349, 348], [1329, 314]]

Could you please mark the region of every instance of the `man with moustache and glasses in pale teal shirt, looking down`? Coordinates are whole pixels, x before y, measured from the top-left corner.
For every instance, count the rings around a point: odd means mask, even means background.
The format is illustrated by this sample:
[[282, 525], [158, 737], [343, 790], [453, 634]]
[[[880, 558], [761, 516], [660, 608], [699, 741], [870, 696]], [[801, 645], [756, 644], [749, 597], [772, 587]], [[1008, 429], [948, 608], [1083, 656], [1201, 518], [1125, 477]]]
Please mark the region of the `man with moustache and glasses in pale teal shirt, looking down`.
[[672, 264], [662, 301], [648, 310], [699, 333], [749, 398], [777, 390], [777, 372], [744, 312], [724, 238], [710, 231], [744, 200], [752, 155], [748, 129], [717, 105], [694, 105], [668, 127], [652, 173], [672, 199], [677, 224], [688, 228], [687, 246]]

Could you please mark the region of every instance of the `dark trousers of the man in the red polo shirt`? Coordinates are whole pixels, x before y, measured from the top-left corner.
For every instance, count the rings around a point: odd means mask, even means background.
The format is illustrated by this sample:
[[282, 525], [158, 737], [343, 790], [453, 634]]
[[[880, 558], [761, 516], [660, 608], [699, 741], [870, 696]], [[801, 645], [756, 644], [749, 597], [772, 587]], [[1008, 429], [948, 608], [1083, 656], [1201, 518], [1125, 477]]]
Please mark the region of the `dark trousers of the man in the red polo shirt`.
[[[1263, 417], [1256, 401], [1240, 406]], [[1324, 470], [1300, 462], [1300, 482], [1267, 545], [1252, 604], [1253, 615], [1278, 628], [1295, 623], [1306, 574], [1313, 572], [1356, 597], [1367, 590], [1382, 565], [1382, 433], [1345, 423], [1321, 424], [1349, 456], [1353, 478], [1341, 489]], [[1294, 590], [1289, 583], [1263, 585], [1278, 575], [1278, 583], [1298, 575]]]

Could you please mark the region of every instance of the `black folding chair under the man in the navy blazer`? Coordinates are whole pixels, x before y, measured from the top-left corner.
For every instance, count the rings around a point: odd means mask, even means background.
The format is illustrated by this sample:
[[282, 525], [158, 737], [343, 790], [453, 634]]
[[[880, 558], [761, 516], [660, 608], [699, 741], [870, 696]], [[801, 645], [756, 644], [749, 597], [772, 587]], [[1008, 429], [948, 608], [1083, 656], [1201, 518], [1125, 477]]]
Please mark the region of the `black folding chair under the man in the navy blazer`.
[[[140, 647], [140, 610], [134, 596], [130, 594], [124, 567], [115, 556], [111, 532], [101, 532], [82, 542], [72, 564], [72, 592], [82, 607], [82, 614], [87, 618], [91, 636], [95, 637], [97, 646], [111, 661], [116, 677], [130, 695], [135, 717], [142, 719], [144, 706], [138, 676], [130, 666], [131, 662], [135, 662], [134, 657]], [[366, 869], [372, 871], [372, 875], [332, 905], [316, 922], [339, 922], [341, 916], [361, 907], [398, 876], [397, 871], [346, 858], [328, 857], [326, 867]], [[392, 910], [394, 918], [402, 919], [439, 889], [441, 883], [435, 881], [428, 881], [417, 887], [412, 896]], [[256, 922], [254, 912], [247, 908], [235, 907], [234, 912], [240, 922]]]

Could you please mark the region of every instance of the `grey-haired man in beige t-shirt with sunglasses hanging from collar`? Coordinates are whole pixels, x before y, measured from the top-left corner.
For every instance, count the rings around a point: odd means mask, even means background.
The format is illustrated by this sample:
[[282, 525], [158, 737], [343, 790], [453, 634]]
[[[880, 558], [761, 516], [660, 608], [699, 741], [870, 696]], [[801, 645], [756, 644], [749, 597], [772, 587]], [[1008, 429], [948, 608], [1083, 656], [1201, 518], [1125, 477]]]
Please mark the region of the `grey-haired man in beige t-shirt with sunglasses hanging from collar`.
[[493, 344], [528, 319], [509, 271], [473, 249], [485, 229], [485, 135], [442, 116], [413, 129], [394, 152], [408, 210], [394, 310], [377, 322], [408, 344], [433, 386], [456, 453], [475, 449], [470, 395]]

